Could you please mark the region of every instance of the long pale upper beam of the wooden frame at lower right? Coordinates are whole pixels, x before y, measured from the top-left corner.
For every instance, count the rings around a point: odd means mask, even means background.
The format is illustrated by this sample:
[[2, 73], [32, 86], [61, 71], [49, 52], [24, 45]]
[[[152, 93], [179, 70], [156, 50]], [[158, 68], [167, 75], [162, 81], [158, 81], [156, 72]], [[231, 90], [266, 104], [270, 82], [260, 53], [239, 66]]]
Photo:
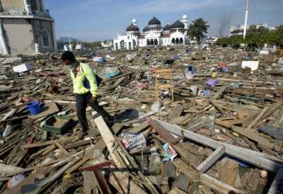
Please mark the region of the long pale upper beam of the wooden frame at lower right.
[[210, 139], [209, 137], [204, 137], [195, 132], [183, 130], [178, 125], [171, 125], [167, 122], [163, 122], [162, 120], [157, 120], [157, 121], [162, 125], [164, 130], [168, 130], [169, 132], [175, 135], [178, 135], [178, 136], [182, 135], [183, 133], [183, 135], [187, 137], [187, 139], [190, 139], [194, 142], [204, 144], [214, 149], [217, 149], [218, 147], [223, 145], [225, 147], [225, 154], [228, 154], [230, 156], [236, 157], [237, 159], [246, 161], [262, 169], [266, 169], [272, 172], [277, 172], [278, 169], [283, 168], [283, 165], [281, 163], [277, 161], [273, 161], [272, 158], [274, 157], [268, 154], [255, 152], [250, 149], [246, 149], [243, 147], [237, 147], [237, 146], [226, 144], [223, 142], [217, 142], [214, 139]]

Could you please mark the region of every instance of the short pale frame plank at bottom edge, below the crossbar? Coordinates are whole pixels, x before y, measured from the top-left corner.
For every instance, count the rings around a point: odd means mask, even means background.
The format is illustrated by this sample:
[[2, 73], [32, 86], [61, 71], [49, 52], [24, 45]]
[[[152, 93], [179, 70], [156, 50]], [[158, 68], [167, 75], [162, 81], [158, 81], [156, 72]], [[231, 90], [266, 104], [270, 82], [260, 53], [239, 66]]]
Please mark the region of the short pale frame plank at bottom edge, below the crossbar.
[[237, 188], [233, 188], [232, 186], [227, 185], [226, 183], [222, 183], [221, 181], [209, 176], [205, 173], [200, 175], [200, 181], [204, 183], [205, 186], [212, 188], [213, 190], [217, 190], [221, 194], [230, 194], [230, 193], [248, 193], [244, 190], [239, 190]]

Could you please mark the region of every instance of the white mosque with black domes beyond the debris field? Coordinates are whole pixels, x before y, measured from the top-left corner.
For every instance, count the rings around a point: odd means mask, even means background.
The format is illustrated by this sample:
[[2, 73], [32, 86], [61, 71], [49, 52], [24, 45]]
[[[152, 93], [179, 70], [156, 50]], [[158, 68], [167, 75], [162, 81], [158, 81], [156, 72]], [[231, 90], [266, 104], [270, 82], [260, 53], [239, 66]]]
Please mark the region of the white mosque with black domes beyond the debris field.
[[136, 19], [126, 28], [126, 33], [118, 34], [113, 38], [114, 50], [132, 50], [136, 47], [185, 45], [189, 41], [187, 37], [187, 16], [181, 21], [175, 21], [172, 25], [168, 23], [163, 28], [158, 18], [152, 18], [148, 25], [139, 32]]

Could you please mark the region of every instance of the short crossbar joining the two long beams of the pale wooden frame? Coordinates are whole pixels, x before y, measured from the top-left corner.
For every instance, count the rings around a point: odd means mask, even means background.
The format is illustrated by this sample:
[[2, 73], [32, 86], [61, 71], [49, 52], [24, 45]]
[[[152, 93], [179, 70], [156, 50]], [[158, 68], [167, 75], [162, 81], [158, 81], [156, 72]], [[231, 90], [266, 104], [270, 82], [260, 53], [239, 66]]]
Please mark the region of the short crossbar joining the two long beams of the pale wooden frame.
[[200, 173], [207, 171], [223, 154], [225, 153], [224, 146], [218, 147], [210, 156], [205, 159], [200, 166], [197, 166], [197, 170]]

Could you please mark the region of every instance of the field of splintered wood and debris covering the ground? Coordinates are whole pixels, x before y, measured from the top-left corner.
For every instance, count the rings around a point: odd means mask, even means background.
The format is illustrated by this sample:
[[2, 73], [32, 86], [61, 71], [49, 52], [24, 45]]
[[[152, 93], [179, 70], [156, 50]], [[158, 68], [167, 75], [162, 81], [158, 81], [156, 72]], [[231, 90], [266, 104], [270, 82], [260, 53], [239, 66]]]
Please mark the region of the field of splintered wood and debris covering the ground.
[[[283, 66], [272, 53], [77, 56], [103, 77], [98, 100], [115, 124], [88, 108], [91, 129], [79, 139], [59, 54], [1, 58], [0, 193], [283, 192]], [[173, 102], [166, 89], [156, 102], [154, 72], [164, 68], [173, 69]], [[40, 113], [30, 114], [32, 101]]]

